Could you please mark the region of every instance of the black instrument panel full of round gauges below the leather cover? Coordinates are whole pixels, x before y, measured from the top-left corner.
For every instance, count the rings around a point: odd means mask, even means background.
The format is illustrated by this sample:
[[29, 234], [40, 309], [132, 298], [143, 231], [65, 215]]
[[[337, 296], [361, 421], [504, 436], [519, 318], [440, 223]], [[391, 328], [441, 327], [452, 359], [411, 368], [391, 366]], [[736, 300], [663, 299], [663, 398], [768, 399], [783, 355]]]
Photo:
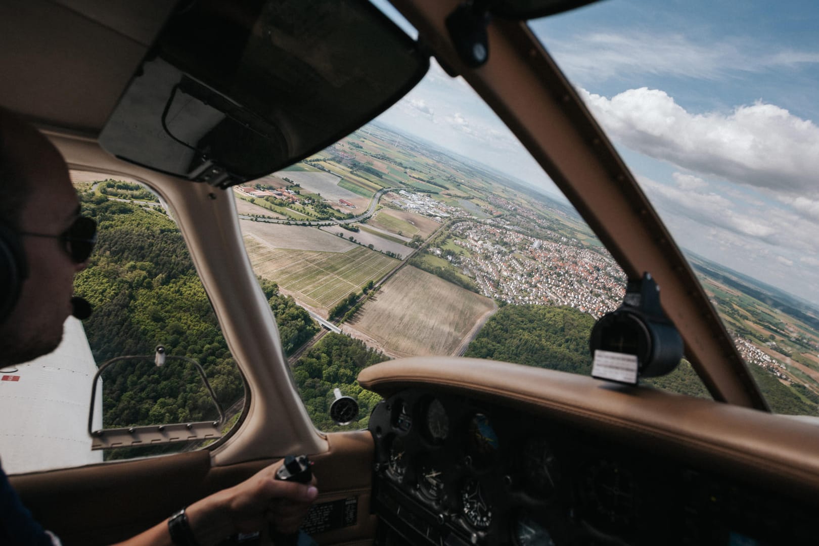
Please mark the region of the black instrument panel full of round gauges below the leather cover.
[[815, 544], [804, 503], [514, 408], [409, 389], [369, 430], [377, 544]]

